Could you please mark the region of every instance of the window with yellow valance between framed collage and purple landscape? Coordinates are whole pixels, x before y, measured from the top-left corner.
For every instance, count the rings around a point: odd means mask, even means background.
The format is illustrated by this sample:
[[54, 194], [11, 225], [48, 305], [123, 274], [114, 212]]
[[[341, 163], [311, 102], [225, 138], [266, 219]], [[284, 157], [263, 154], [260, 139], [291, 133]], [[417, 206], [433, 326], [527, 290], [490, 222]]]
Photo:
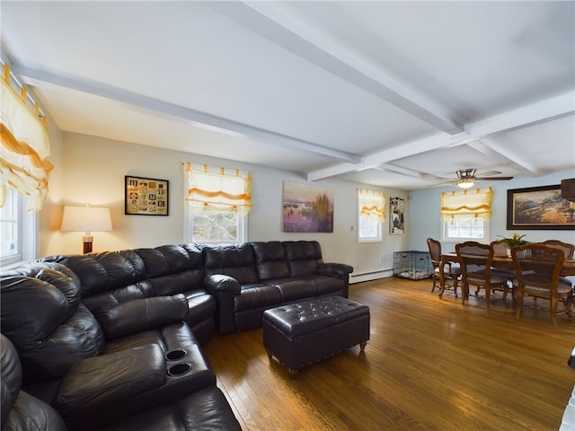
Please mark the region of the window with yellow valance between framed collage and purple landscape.
[[186, 163], [188, 190], [186, 242], [246, 242], [247, 215], [252, 208], [250, 172], [227, 174], [191, 169]]

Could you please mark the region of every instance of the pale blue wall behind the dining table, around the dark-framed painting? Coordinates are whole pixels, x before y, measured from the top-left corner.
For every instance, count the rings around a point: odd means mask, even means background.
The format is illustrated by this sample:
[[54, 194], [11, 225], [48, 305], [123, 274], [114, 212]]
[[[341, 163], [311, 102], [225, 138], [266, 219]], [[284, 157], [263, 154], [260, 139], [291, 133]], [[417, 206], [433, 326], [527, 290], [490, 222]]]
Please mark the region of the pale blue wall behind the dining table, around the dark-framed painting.
[[[527, 187], [552, 186], [561, 184], [561, 180], [575, 177], [575, 172], [562, 171], [553, 172], [537, 178], [515, 178], [509, 181], [485, 181], [479, 183], [481, 189], [491, 187], [493, 189], [493, 202], [491, 204], [491, 239], [500, 239], [497, 235], [510, 236], [517, 232], [526, 234], [526, 240], [530, 242], [544, 240], [561, 240], [575, 243], [575, 231], [564, 230], [507, 230], [507, 190], [523, 189]], [[429, 188], [413, 190], [410, 192], [409, 200], [409, 226], [410, 239], [409, 246], [412, 250], [428, 250], [427, 238], [441, 238], [441, 222], [439, 209], [441, 206], [440, 197], [443, 191], [453, 191], [453, 187]], [[443, 242], [442, 249], [453, 251], [454, 243]]]

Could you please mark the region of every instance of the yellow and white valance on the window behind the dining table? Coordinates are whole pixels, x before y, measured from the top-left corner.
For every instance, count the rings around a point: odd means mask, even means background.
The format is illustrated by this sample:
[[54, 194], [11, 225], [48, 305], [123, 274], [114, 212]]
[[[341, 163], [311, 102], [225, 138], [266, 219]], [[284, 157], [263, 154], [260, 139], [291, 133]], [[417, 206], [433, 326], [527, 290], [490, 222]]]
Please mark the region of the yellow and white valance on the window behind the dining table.
[[491, 202], [493, 189], [466, 189], [457, 193], [441, 193], [441, 219], [453, 219], [456, 215], [468, 215], [489, 219], [491, 216]]

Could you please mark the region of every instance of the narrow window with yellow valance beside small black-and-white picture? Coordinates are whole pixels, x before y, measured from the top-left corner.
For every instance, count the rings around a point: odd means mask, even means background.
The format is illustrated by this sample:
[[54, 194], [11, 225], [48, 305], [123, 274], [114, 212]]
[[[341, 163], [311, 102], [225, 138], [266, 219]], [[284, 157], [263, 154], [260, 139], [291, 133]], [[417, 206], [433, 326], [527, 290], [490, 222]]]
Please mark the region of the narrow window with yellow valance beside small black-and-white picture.
[[385, 194], [358, 189], [358, 242], [382, 241], [385, 221]]

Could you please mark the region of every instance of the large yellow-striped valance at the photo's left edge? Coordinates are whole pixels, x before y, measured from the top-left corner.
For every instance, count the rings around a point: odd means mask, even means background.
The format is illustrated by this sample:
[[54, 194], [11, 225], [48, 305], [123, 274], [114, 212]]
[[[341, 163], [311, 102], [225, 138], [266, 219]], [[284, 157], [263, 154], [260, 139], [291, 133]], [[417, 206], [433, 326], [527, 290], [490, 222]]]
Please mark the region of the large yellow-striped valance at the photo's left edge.
[[38, 105], [31, 109], [25, 89], [19, 95], [11, 84], [10, 68], [3, 65], [0, 79], [0, 207], [4, 207], [6, 186], [29, 197], [28, 210], [40, 211], [48, 195], [52, 163], [46, 119], [40, 117]]

